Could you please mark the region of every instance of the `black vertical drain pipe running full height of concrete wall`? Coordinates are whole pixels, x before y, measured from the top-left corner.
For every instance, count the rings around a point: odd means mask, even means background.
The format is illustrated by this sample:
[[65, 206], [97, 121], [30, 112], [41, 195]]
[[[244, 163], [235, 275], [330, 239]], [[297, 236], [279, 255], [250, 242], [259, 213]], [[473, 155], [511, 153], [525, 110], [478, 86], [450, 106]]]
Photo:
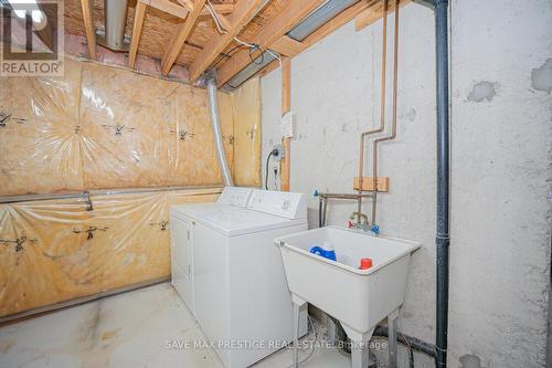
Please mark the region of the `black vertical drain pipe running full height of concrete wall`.
[[437, 336], [435, 367], [447, 366], [449, 234], [448, 0], [434, 0], [437, 66]]

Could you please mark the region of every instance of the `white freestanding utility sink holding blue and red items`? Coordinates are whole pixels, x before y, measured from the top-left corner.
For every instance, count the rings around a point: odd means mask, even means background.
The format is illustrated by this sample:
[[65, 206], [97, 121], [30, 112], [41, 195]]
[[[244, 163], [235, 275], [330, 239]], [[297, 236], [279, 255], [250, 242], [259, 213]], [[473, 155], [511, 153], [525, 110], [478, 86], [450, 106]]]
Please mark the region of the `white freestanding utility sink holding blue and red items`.
[[[323, 241], [333, 244], [337, 261], [309, 252]], [[353, 368], [368, 366], [373, 330], [389, 318], [390, 367], [396, 365], [396, 318], [404, 302], [411, 253], [421, 244], [340, 227], [277, 238], [275, 243], [282, 252], [297, 318], [308, 302], [339, 319], [353, 341]], [[372, 259], [372, 267], [359, 270], [363, 257]], [[297, 330], [297, 320], [294, 324]], [[294, 360], [297, 364], [297, 354]]]

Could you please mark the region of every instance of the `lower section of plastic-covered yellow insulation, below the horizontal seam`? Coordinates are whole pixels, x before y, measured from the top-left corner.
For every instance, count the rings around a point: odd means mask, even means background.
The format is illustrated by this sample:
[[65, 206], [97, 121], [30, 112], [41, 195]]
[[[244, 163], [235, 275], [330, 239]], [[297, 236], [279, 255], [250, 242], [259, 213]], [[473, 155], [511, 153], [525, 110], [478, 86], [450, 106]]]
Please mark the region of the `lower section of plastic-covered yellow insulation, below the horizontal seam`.
[[193, 191], [0, 204], [0, 316], [170, 275], [169, 206]]

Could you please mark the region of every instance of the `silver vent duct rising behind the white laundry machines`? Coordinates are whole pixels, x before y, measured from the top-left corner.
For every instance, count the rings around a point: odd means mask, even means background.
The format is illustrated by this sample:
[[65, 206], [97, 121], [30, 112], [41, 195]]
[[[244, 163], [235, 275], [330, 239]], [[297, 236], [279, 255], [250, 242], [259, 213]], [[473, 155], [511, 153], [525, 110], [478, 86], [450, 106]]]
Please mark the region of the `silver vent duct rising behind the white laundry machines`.
[[216, 96], [216, 74], [213, 70], [204, 75], [209, 96], [209, 112], [211, 114], [211, 125], [213, 127], [214, 146], [216, 149], [216, 158], [221, 168], [224, 187], [233, 187], [232, 176], [230, 175], [229, 162], [224, 155], [224, 145], [221, 133], [221, 119], [219, 115], [219, 99]]

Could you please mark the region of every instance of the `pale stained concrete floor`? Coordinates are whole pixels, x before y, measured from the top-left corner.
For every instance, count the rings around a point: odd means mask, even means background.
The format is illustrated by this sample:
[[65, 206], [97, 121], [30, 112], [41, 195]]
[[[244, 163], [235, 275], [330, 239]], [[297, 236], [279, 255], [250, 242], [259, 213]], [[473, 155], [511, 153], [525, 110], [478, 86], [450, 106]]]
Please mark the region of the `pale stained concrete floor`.
[[[163, 283], [1, 327], [0, 367], [223, 367], [211, 348], [170, 347], [187, 340], [205, 336]], [[290, 364], [291, 350], [283, 349], [255, 367]], [[301, 367], [350, 367], [350, 357], [317, 348]]]

